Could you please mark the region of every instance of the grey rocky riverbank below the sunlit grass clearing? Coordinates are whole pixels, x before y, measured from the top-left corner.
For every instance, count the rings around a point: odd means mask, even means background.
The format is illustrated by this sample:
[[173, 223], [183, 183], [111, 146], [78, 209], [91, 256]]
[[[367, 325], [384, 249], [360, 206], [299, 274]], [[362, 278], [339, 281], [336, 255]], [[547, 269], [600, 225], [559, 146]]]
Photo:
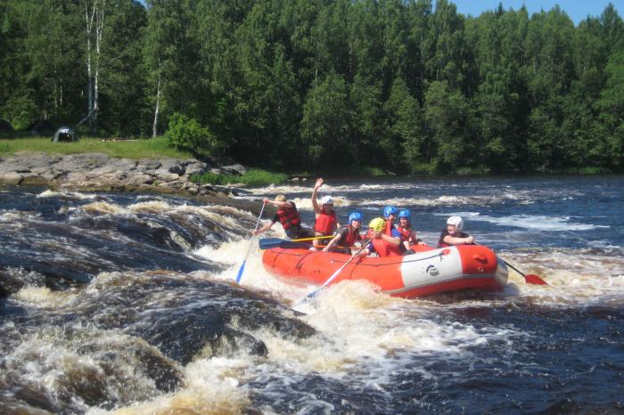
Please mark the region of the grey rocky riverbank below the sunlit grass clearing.
[[[197, 159], [116, 159], [103, 153], [51, 155], [17, 153], [0, 158], [0, 184], [45, 185], [56, 190], [74, 191], [152, 191], [178, 193], [218, 201], [229, 199], [242, 189], [198, 184], [193, 174], [211, 171], [241, 175], [241, 165], [218, 166]], [[228, 205], [243, 205], [233, 203]], [[246, 207], [245, 207], [246, 208]]]

